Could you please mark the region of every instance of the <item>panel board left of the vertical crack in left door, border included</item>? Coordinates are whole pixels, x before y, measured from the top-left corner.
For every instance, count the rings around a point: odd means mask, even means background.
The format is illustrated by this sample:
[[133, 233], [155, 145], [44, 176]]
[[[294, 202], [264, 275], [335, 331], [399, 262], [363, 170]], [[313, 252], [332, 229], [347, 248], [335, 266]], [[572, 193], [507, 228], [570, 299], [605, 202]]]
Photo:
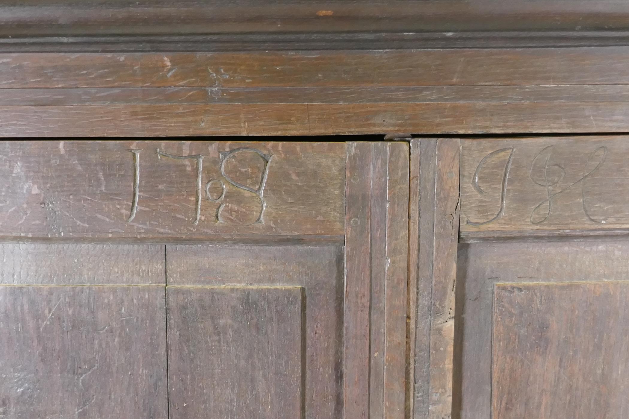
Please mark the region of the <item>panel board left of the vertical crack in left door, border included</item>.
[[0, 417], [167, 419], [164, 248], [0, 244]]

